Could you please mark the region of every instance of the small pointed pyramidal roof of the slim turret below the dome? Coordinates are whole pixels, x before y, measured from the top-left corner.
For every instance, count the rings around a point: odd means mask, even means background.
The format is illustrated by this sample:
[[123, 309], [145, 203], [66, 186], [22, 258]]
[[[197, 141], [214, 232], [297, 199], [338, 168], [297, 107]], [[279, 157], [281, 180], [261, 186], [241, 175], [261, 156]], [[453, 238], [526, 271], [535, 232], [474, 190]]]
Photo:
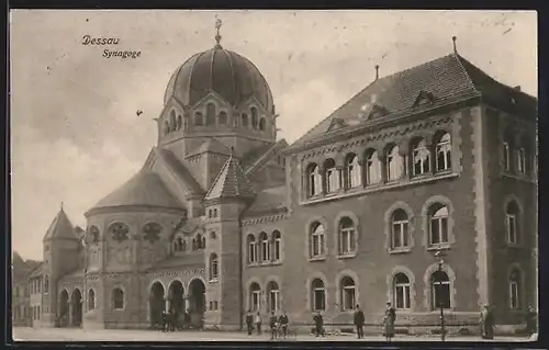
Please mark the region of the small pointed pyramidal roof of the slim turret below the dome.
[[238, 160], [231, 154], [227, 161], [221, 168], [220, 173], [204, 196], [204, 201], [224, 199], [253, 199], [254, 189], [244, 173]]

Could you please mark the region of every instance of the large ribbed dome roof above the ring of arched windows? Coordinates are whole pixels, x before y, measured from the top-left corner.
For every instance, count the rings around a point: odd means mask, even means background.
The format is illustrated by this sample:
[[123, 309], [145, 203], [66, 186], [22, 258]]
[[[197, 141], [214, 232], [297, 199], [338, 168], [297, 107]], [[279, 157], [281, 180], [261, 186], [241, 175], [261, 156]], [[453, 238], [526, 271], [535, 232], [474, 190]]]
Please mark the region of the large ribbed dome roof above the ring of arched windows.
[[269, 113], [273, 113], [271, 90], [259, 69], [247, 58], [216, 46], [189, 58], [171, 76], [164, 103], [175, 97], [184, 105], [193, 105], [214, 91], [232, 105], [251, 95]]

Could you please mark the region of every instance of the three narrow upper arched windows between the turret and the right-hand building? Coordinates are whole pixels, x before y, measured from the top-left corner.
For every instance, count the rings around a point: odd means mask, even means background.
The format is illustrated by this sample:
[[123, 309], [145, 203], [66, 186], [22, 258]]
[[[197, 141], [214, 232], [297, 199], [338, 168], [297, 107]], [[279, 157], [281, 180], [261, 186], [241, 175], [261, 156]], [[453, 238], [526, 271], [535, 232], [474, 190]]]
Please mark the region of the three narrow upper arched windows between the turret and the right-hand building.
[[282, 235], [273, 230], [270, 235], [261, 232], [257, 237], [246, 237], [248, 263], [278, 262], [282, 260]]

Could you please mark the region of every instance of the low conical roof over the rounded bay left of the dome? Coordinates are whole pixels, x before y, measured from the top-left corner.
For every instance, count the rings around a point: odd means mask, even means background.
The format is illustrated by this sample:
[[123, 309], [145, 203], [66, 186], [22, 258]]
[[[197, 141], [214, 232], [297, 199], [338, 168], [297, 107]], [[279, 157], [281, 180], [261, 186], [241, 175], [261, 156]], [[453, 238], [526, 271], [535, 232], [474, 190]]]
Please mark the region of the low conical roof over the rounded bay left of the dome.
[[181, 210], [182, 205], [169, 192], [160, 177], [143, 169], [126, 183], [99, 201], [92, 210], [116, 206], [157, 206]]

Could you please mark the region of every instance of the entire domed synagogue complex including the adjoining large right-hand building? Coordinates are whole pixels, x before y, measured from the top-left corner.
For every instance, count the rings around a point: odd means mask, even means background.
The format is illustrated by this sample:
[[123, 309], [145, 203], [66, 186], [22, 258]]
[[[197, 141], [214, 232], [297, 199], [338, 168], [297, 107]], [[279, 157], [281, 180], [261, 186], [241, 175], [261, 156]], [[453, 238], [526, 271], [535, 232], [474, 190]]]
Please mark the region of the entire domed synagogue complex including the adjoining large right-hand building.
[[146, 328], [167, 307], [220, 329], [248, 309], [351, 324], [356, 304], [379, 324], [386, 301], [400, 325], [437, 324], [439, 305], [451, 325], [484, 304], [523, 321], [535, 98], [452, 53], [376, 77], [288, 146], [264, 76], [216, 39], [176, 70], [158, 144], [86, 234], [56, 216], [31, 293], [41, 325]]

